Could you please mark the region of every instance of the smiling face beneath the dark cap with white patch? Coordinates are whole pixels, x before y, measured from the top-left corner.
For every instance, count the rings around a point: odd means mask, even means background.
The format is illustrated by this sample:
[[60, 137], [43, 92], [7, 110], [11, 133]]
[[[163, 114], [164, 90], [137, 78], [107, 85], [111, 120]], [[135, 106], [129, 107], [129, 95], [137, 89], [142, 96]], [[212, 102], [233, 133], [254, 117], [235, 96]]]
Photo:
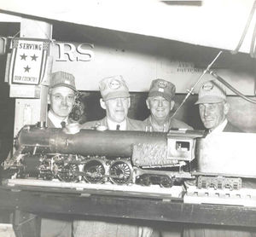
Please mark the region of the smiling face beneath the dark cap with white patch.
[[174, 101], [167, 101], [162, 96], [148, 97], [146, 103], [156, 120], [165, 120], [174, 106]]

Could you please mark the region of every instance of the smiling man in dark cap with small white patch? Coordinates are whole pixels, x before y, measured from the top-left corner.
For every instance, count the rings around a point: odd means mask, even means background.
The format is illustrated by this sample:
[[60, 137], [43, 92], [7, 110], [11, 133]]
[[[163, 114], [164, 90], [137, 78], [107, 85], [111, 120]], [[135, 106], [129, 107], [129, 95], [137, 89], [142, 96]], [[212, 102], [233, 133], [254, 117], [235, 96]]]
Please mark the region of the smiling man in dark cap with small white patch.
[[171, 116], [175, 102], [175, 85], [163, 79], [153, 80], [146, 101], [150, 116], [144, 120], [147, 130], [168, 131], [171, 128], [193, 130], [188, 124]]

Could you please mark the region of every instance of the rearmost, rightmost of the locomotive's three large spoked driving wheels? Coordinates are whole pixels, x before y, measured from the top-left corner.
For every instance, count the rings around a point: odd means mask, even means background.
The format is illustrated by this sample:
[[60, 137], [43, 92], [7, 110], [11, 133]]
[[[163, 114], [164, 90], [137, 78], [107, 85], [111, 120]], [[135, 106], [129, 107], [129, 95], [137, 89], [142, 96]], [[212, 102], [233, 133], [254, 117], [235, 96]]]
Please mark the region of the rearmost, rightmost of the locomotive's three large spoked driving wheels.
[[117, 184], [131, 182], [132, 167], [131, 163], [126, 160], [117, 160], [109, 168], [110, 180]]

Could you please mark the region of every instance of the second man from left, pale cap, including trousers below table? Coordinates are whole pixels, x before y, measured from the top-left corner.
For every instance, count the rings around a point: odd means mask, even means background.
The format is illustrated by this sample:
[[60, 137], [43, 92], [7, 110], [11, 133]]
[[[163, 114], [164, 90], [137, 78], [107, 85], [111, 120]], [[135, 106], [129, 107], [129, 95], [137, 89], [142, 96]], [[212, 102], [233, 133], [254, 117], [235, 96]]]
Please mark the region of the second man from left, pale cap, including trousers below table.
[[[106, 117], [101, 120], [86, 122], [83, 129], [99, 129], [101, 126], [108, 130], [144, 130], [143, 121], [127, 117], [131, 105], [130, 94], [122, 76], [104, 78], [99, 84], [102, 99], [101, 107], [106, 110]], [[108, 221], [86, 220], [73, 222], [73, 237], [149, 237], [152, 229], [140, 227], [131, 223], [117, 223], [109, 218]]]

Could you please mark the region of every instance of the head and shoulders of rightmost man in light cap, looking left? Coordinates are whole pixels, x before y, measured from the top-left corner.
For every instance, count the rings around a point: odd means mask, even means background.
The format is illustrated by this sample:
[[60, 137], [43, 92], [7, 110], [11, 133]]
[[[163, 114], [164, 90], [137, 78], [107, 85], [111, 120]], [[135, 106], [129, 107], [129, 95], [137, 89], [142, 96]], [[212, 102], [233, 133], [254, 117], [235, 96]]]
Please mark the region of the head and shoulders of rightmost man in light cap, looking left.
[[210, 132], [241, 132], [226, 119], [230, 105], [226, 101], [224, 87], [218, 81], [211, 80], [202, 84], [195, 104], [199, 105], [201, 121]]

